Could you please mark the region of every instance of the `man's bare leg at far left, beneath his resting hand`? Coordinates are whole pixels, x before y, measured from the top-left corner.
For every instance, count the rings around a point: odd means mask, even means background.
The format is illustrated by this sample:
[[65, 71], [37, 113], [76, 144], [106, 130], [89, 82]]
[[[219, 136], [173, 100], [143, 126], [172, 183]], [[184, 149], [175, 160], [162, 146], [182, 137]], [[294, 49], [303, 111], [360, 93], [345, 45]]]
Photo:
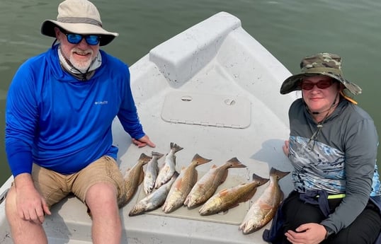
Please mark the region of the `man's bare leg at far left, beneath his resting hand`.
[[16, 209], [16, 189], [11, 187], [6, 195], [6, 218], [11, 226], [11, 236], [15, 244], [44, 244], [47, 237], [40, 223], [21, 219]]

